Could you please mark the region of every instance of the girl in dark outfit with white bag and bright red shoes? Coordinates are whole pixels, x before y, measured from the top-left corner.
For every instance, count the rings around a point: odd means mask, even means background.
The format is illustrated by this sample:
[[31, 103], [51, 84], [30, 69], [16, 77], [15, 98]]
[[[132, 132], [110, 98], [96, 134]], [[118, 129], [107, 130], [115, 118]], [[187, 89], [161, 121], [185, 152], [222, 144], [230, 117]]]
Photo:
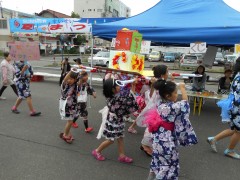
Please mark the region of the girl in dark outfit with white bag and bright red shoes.
[[[78, 86], [78, 92], [79, 92], [78, 97], [80, 96], [81, 98], [78, 98], [77, 108], [78, 108], [79, 115], [83, 118], [85, 132], [89, 133], [93, 130], [93, 128], [88, 126], [87, 96], [92, 95], [94, 98], [96, 98], [97, 94], [95, 90], [88, 84], [87, 81], [88, 81], [88, 73], [83, 71], [81, 73], [81, 79]], [[79, 115], [74, 117], [73, 119], [72, 126], [74, 128], [78, 128], [78, 124], [76, 123], [76, 121]]]

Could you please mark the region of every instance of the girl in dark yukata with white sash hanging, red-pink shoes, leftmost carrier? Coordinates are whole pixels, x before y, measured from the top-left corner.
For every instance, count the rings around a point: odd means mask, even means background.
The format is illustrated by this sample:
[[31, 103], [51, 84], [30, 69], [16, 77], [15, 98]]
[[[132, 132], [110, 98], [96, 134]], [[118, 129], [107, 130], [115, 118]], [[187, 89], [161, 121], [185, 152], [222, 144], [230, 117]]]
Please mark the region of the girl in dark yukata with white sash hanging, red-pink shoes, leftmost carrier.
[[72, 143], [73, 136], [70, 133], [74, 117], [78, 116], [77, 94], [78, 94], [78, 77], [79, 73], [70, 71], [63, 80], [61, 86], [61, 98], [59, 101], [59, 111], [61, 119], [67, 121], [64, 132], [60, 133], [67, 143]]

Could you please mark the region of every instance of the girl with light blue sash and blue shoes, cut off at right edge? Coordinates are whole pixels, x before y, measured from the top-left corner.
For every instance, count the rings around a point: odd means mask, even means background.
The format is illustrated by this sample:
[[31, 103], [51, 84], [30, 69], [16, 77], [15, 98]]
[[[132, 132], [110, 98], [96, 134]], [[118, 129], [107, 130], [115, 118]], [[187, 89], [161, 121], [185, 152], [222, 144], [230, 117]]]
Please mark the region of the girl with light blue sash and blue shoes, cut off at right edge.
[[208, 137], [207, 142], [211, 145], [212, 150], [217, 152], [217, 142], [231, 137], [224, 154], [227, 157], [240, 159], [240, 154], [235, 151], [236, 145], [240, 141], [240, 57], [236, 60], [233, 77], [228, 99], [218, 102], [218, 106], [222, 108], [222, 121], [229, 123], [230, 128], [220, 132], [215, 137]]

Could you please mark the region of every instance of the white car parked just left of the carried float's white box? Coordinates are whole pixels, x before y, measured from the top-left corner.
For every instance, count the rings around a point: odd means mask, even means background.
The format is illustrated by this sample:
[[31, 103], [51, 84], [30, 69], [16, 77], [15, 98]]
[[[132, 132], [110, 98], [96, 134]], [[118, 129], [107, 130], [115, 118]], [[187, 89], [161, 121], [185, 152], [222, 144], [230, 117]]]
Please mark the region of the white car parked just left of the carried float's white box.
[[[93, 66], [106, 66], [109, 65], [110, 52], [109, 51], [99, 51], [93, 56], [92, 64]], [[88, 58], [88, 64], [91, 66], [91, 57]]]

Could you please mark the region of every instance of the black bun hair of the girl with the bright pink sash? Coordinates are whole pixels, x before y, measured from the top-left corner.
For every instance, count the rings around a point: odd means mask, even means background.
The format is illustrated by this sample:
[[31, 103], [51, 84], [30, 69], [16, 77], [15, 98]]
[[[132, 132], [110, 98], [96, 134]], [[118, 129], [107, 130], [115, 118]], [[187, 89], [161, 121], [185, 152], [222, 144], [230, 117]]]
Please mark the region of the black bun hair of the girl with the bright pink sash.
[[172, 81], [159, 79], [153, 84], [153, 87], [159, 91], [159, 95], [163, 99], [166, 99], [167, 95], [171, 96], [171, 94], [176, 90], [177, 85]]

